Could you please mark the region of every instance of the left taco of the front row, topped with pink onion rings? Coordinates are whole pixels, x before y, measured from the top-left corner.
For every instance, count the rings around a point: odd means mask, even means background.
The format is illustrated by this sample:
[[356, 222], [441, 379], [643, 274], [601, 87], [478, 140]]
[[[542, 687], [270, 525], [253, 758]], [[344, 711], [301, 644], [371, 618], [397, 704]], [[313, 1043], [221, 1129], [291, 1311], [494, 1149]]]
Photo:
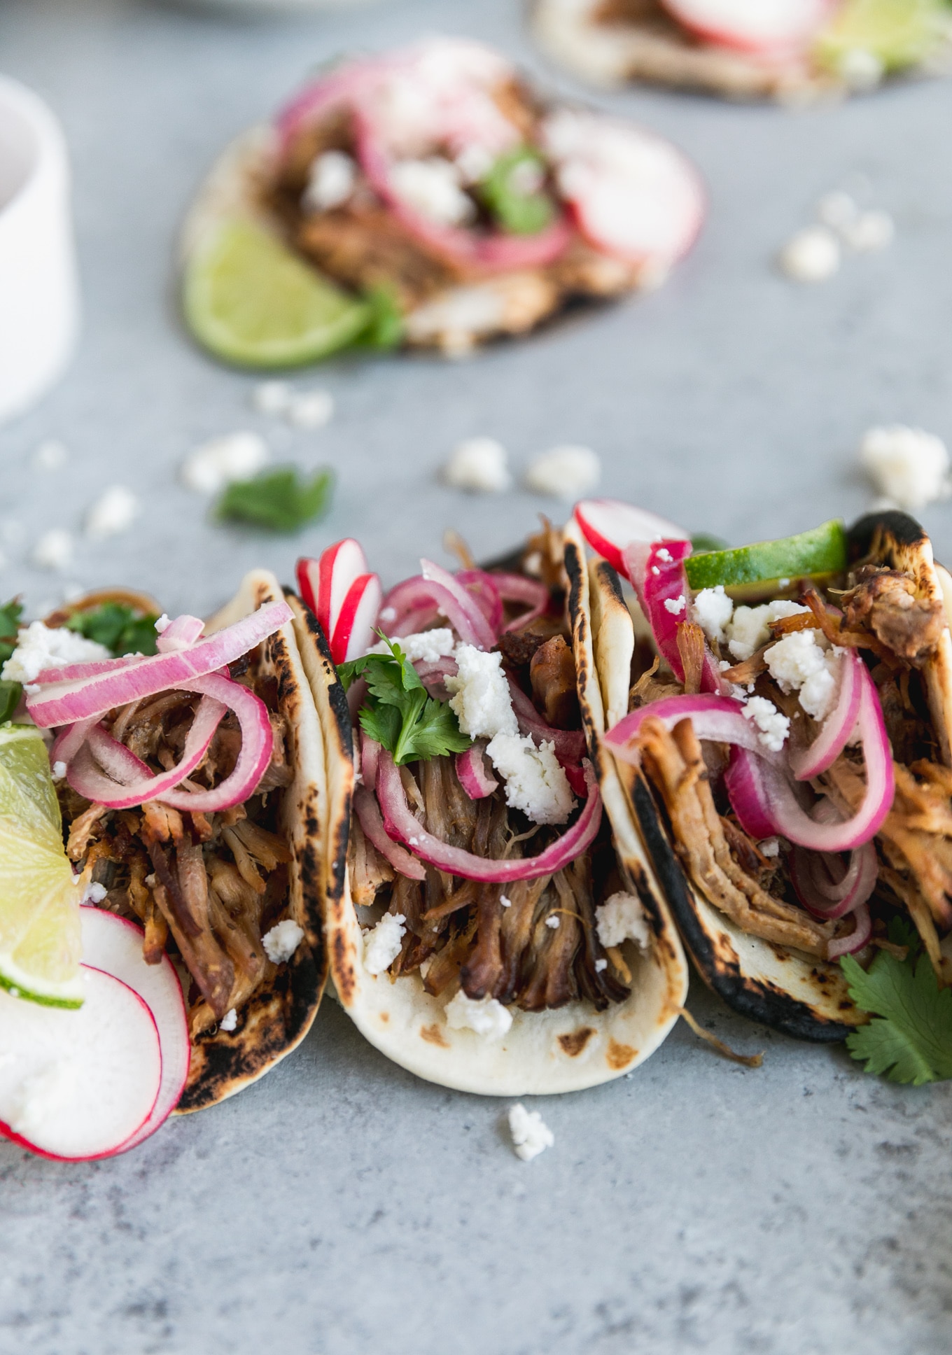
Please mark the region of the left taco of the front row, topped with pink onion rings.
[[56, 733], [83, 959], [100, 963], [92, 906], [134, 924], [146, 982], [174, 962], [189, 1049], [172, 1104], [213, 1106], [301, 1042], [325, 977], [324, 745], [283, 592], [250, 573], [205, 625], [141, 593], [88, 595], [20, 630], [4, 678]]

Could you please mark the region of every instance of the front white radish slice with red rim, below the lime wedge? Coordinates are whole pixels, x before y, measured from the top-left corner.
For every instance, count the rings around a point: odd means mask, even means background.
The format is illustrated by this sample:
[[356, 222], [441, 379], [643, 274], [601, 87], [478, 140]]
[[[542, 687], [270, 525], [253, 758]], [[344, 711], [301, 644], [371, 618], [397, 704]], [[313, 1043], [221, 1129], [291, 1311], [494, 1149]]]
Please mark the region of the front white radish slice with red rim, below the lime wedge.
[[138, 993], [83, 965], [77, 1011], [0, 992], [0, 1131], [45, 1157], [121, 1152], [161, 1084], [152, 1012]]

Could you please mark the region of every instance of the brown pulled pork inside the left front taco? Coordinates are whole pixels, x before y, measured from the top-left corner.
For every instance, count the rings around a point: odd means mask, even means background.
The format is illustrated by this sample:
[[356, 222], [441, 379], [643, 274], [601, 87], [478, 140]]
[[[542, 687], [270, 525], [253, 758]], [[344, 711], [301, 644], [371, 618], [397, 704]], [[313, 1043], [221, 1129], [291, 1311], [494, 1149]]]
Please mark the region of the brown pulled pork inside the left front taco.
[[[289, 730], [277, 713], [277, 682], [254, 676], [247, 660], [232, 667], [233, 678], [240, 668], [245, 672], [237, 680], [264, 702], [274, 732], [271, 762], [245, 804], [207, 814], [160, 801], [115, 810], [91, 804], [65, 780], [58, 786], [66, 854], [87, 889], [99, 886], [92, 897], [142, 924], [148, 963], [168, 951], [189, 970], [193, 1039], [231, 1008], [240, 1012], [275, 973], [262, 935], [287, 906], [292, 854], [278, 825], [281, 797], [293, 779]], [[106, 724], [153, 771], [168, 770], [182, 759], [198, 699], [165, 691], [113, 711]], [[235, 768], [240, 747], [229, 711], [191, 783], [217, 786]]]

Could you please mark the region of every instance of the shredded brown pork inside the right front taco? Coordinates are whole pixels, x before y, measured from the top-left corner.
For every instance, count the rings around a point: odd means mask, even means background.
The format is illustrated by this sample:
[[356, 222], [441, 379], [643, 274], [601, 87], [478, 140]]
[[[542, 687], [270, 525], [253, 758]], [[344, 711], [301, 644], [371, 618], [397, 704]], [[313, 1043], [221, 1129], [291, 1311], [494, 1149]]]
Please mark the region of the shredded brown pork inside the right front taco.
[[[879, 874], [869, 898], [871, 944], [888, 946], [888, 917], [896, 909], [907, 912], [936, 973], [948, 981], [952, 973], [940, 938], [952, 930], [952, 770], [941, 763], [924, 673], [947, 626], [944, 607], [914, 573], [869, 561], [837, 581], [845, 587], [829, 587], [825, 596], [811, 585], [801, 587], [799, 608], [765, 622], [769, 638], [739, 661], [731, 663], [738, 653], [732, 634], [738, 634], [740, 608], [731, 622], [719, 618], [720, 625], [705, 627], [707, 644], [723, 676], [736, 684], [739, 699], [762, 698], [789, 720], [791, 749], [814, 743], [826, 710], [808, 696], [806, 682], [797, 688], [796, 682], [777, 676], [784, 671], [772, 656], [773, 646], [784, 635], [807, 630], [825, 656], [844, 648], [862, 652], [892, 745], [896, 787], [875, 839]], [[685, 683], [655, 659], [632, 686], [629, 709], [698, 690], [700, 665], [689, 661], [697, 640], [689, 631], [698, 629], [683, 622], [678, 634]], [[694, 886], [743, 931], [826, 959], [830, 940], [849, 935], [853, 920], [812, 916], [793, 888], [791, 844], [784, 839], [758, 843], [743, 832], [723, 783], [727, 745], [700, 743], [689, 720], [667, 730], [659, 720], [647, 718], [636, 738], [643, 770]], [[848, 744], [811, 786], [829, 797], [844, 818], [854, 814], [865, 793], [861, 748]], [[862, 958], [862, 951], [858, 954]]]

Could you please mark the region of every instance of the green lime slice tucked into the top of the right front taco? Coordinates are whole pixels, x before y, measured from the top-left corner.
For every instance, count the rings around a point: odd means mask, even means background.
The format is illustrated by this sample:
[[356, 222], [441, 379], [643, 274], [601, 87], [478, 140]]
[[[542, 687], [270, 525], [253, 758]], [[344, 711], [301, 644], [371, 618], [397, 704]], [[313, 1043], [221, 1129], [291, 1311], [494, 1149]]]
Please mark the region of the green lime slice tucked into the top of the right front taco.
[[834, 575], [846, 568], [846, 533], [839, 519], [825, 522], [812, 531], [781, 541], [758, 541], [738, 550], [711, 550], [685, 560], [688, 583], [701, 588], [738, 588], [749, 584], [763, 585], [806, 575]]

